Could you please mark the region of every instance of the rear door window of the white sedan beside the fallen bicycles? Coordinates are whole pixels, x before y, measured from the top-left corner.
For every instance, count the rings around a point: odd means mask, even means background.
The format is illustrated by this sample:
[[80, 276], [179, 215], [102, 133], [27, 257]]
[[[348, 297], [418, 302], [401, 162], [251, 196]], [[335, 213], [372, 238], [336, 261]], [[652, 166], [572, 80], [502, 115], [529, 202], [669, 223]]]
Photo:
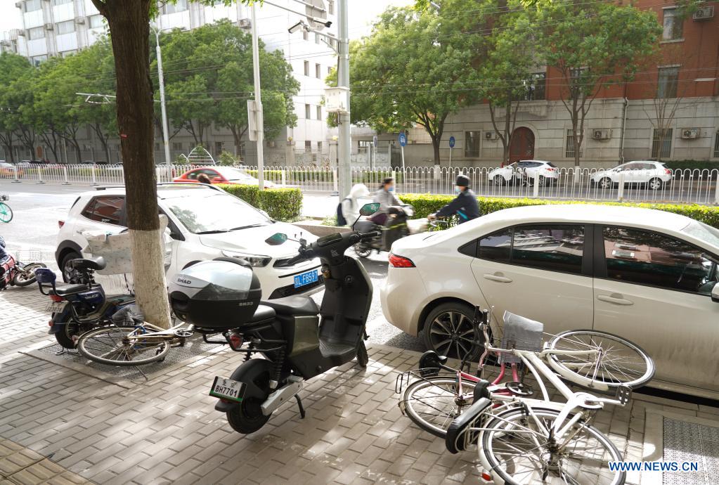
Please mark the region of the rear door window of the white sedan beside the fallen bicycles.
[[582, 273], [583, 226], [521, 226], [514, 230], [513, 264]]

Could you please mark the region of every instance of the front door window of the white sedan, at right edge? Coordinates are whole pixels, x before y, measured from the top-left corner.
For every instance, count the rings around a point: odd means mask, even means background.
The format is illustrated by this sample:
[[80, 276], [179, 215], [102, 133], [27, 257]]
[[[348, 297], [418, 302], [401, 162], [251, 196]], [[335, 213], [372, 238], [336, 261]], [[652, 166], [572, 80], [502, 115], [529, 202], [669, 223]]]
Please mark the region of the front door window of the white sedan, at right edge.
[[610, 279], [707, 295], [717, 282], [715, 258], [682, 240], [626, 227], [603, 235]]

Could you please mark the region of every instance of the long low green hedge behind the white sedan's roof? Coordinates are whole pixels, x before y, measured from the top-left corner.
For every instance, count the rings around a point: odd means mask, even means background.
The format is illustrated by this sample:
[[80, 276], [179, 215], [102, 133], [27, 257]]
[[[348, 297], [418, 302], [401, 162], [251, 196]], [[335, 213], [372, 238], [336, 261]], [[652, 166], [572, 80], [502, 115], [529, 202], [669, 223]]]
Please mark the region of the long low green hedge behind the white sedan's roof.
[[[415, 218], [427, 217], [437, 212], [444, 204], [454, 199], [449, 195], [430, 194], [402, 194], [400, 200], [406, 204], [412, 204], [415, 209]], [[547, 204], [600, 204], [627, 207], [644, 207], [644, 209], [658, 209], [666, 212], [674, 212], [691, 217], [707, 225], [719, 229], [719, 207], [704, 206], [700, 204], [631, 204], [622, 202], [593, 202], [593, 201], [554, 201], [544, 199], [513, 199], [509, 197], [477, 197], [480, 204], [480, 214], [490, 214], [510, 207], [525, 207]]]

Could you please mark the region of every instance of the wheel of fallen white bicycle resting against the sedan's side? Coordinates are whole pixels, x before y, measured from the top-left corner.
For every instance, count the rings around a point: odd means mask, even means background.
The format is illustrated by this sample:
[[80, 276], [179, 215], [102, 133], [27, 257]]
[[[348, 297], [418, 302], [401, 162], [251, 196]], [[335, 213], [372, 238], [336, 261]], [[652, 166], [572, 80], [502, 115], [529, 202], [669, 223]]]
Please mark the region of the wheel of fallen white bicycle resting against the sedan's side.
[[[592, 383], [609, 388], [644, 386], [654, 376], [654, 361], [638, 345], [617, 335], [595, 330], [569, 330], [556, 335], [549, 343], [554, 350], [602, 350], [597, 354], [551, 354], [549, 363], [565, 379], [592, 387]], [[579, 379], [572, 379], [577, 377]], [[587, 379], [589, 381], [587, 382]]]

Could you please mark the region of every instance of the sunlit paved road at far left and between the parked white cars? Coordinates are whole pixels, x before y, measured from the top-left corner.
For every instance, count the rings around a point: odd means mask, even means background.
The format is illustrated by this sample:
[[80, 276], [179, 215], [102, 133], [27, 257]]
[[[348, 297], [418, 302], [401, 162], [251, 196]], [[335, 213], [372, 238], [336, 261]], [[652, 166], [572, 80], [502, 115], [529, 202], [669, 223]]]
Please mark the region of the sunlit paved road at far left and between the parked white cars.
[[[20, 258], [37, 259], [35, 253], [40, 252], [42, 260], [53, 265], [58, 220], [65, 218], [78, 194], [88, 190], [91, 188], [87, 186], [0, 182], [0, 193], [10, 196], [9, 204], [14, 211], [12, 221], [0, 226], [0, 235], [5, 237], [10, 250], [20, 253]], [[331, 197], [307, 195], [305, 199], [309, 211], [318, 211], [329, 204]], [[336, 203], [333, 207], [335, 206]], [[23, 256], [23, 254], [32, 254], [32, 256]], [[421, 340], [400, 332], [383, 317], [380, 307], [380, 284], [387, 276], [387, 254], [373, 254], [367, 260], [362, 260], [362, 264], [375, 286], [370, 316], [367, 319], [370, 342], [409, 350], [424, 350]], [[313, 296], [318, 303], [321, 297], [322, 293]]]

